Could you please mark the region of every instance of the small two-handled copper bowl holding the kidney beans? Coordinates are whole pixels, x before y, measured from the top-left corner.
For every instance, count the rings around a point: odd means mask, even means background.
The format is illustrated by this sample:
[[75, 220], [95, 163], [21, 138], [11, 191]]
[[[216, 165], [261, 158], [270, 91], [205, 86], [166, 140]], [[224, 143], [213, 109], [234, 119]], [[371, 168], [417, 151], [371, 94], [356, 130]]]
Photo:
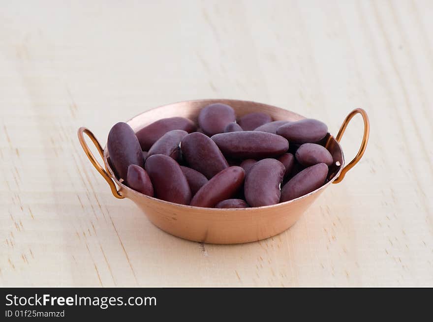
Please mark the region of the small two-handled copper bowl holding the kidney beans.
[[[169, 104], [146, 111], [131, 118], [127, 123], [137, 132], [144, 126], [164, 117], [187, 117], [197, 122], [200, 110], [212, 103], [228, 104], [241, 117], [251, 112], [265, 112], [274, 120], [300, 120], [305, 117], [278, 107], [227, 99], [206, 99], [185, 101]], [[364, 119], [364, 136], [361, 147], [356, 157], [344, 167], [344, 156], [339, 144], [341, 136], [350, 121], [356, 114], [361, 114]], [[105, 169], [94, 158], [89, 146], [87, 146], [83, 133], [86, 133], [98, 149], [104, 160]], [[346, 172], [350, 170], [362, 157], [369, 138], [369, 120], [362, 109], [353, 110], [343, 121], [338, 135], [334, 138], [328, 133], [325, 138], [325, 146], [334, 157], [334, 165], [330, 167], [327, 182], [317, 190], [300, 198], [262, 207], [217, 209], [202, 208], [189, 205], [178, 205], [156, 198], [152, 198], [136, 192], [122, 184], [110, 168], [107, 157], [108, 149], [100, 146], [93, 133], [81, 127], [78, 130], [78, 139], [96, 170], [110, 185], [116, 198], [129, 198], [148, 216], [150, 221], [163, 231], [189, 240], [215, 243], [235, 244], [257, 241], [277, 235], [292, 226], [303, 212], [313, 203], [319, 194], [331, 183], [340, 182]], [[117, 185], [117, 186], [116, 186]], [[117, 188], [119, 187], [119, 188]]]

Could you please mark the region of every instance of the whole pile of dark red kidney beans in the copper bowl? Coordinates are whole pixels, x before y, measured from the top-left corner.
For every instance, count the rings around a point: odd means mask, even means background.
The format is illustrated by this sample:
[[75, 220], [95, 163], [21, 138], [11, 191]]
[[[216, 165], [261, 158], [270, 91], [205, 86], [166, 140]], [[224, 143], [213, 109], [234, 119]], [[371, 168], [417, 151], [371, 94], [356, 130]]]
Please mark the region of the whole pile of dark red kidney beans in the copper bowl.
[[134, 133], [119, 122], [108, 134], [110, 166], [124, 184], [151, 197], [245, 208], [308, 194], [325, 183], [333, 164], [318, 144], [328, 127], [316, 119], [273, 121], [256, 112], [236, 122], [230, 106], [216, 103], [200, 111], [198, 126], [169, 117]]

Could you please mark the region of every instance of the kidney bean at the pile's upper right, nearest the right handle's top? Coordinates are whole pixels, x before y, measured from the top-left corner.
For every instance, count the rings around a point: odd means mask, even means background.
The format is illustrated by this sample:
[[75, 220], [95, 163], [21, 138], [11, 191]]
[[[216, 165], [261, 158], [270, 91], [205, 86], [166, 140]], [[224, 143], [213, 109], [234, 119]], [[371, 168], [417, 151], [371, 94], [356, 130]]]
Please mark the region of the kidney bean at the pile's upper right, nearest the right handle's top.
[[277, 130], [277, 134], [289, 140], [290, 143], [315, 143], [323, 139], [327, 133], [326, 124], [312, 118], [281, 125]]

